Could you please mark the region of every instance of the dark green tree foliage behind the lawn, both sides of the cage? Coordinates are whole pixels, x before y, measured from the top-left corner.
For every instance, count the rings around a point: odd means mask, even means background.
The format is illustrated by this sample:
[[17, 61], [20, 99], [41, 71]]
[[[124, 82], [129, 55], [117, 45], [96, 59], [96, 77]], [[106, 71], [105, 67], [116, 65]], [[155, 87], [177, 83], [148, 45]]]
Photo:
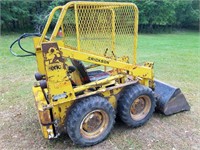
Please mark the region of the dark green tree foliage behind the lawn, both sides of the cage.
[[[101, 0], [111, 1], [111, 0]], [[140, 11], [140, 32], [165, 32], [173, 29], [199, 29], [199, 0], [115, 0], [135, 3]], [[57, 5], [69, 0], [2, 0], [2, 31], [36, 30], [44, 26]], [[40, 29], [41, 30], [41, 29]]]

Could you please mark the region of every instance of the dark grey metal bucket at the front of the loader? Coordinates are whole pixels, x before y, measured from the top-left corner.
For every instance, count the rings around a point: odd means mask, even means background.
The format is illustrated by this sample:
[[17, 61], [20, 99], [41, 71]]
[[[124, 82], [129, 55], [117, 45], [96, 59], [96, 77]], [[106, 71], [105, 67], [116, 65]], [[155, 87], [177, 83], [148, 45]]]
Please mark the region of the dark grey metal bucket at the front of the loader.
[[190, 110], [190, 106], [181, 90], [159, 80], [155, 80], [156, 110], [165, 115], [172, 115]]

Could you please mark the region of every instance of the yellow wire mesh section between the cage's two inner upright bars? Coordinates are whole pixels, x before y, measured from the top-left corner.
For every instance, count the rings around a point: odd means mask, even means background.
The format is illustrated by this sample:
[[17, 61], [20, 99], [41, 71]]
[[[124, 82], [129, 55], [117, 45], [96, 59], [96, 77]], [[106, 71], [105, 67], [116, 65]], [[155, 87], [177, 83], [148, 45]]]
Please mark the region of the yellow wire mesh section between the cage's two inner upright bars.
[[112, 14], [108, 9], [78, 6], [80, 49], [103, 55], [112, 51]]

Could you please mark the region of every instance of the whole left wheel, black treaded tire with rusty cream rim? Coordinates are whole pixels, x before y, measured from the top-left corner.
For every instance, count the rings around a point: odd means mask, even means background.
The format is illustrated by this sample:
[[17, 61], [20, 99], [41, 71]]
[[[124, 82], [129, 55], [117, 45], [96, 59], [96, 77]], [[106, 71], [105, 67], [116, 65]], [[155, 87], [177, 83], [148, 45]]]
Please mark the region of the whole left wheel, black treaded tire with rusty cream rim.
[[65, 127], [75, 144], [91, 146], [109, 135], [115, 123], [115, 116], [114, 108], [105, 98], [91, 96], [72, 107], [66, 118]]

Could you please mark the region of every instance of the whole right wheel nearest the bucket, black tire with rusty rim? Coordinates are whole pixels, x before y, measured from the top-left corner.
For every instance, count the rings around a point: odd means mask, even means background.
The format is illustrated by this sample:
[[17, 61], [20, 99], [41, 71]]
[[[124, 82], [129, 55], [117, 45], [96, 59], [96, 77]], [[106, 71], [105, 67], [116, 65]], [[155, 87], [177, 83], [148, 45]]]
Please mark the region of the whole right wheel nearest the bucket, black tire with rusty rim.
[[[128, 86], [118, 100], [118, 115], [130, 127], [145, 124], [155, 111], [153, 91], [141, 84]], [[141, 109], [137, 113], [138, 109]]]

